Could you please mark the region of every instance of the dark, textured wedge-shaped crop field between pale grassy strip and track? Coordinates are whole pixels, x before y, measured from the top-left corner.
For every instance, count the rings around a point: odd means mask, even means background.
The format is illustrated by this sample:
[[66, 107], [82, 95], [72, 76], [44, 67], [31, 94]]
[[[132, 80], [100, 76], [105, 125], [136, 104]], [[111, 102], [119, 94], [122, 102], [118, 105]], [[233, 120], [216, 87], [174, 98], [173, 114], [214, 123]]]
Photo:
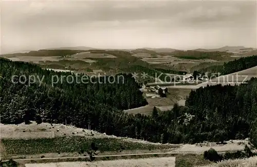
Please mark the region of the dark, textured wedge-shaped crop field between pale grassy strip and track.
[[170, 144], [156, 144], [129, 141], [116, 138], [93, 138], [84, 136], [40, 138], [40, 139], [2, 139], [6, 154], [43, 154], [89, 151], [95, 143], [98, 151], [156, 150], [172, 149]]

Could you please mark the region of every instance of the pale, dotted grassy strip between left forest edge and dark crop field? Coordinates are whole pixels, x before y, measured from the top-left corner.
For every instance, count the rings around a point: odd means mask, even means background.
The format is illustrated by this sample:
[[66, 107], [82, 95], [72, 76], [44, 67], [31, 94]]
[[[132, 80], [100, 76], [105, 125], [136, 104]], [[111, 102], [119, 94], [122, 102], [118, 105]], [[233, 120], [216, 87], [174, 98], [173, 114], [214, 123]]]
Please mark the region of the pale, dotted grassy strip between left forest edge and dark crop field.
[[[65, 123], [65, 122], [64, 122]], [[31, 133], [32, 132], [32, 133]], [[53, 133], [54, 137], [88, 137], [88, 138], [109, 138], [109, 139], [122, 139], [124, 141], [131, 141], [135, 143], [146, 143], [146, 144], [154, 144], [154, 145], [165, 145], [160, 143], [153, 143], [148, 141], [143, 141], [134, 138], [124, 138], [124, 137], [116, 137], [113, 135], [105, 135], [103, 133], [99, 133], [93, 130], [87, 130], [82, 128], [76, 128], [74, 126], [64, 124], [50, 124], [50, 123], [40, 123], [32, 121], [30, 124], [2, 124], [0, 123], [0, 139], [28, 139], [34, 138], [39, 139], [42, 138], [42, 135], [35, 136], [33, 133], [41, 133], [48, 132]], [[21, 135], [24, 133], [24, 136]], [[27, 134], [31, 133], [30, 137]], [[18, 135], [16, 135], [18, 134]], [[42, 133], [44, 134], [44, 133]], [[94, 134], [94, 135], [92, 135]], [[43, 137], [45, 138], [45, 137]], [[50, 138], [50, 137], [49, 137]], [[170, 145], [170, 144], [169, 144]]]

